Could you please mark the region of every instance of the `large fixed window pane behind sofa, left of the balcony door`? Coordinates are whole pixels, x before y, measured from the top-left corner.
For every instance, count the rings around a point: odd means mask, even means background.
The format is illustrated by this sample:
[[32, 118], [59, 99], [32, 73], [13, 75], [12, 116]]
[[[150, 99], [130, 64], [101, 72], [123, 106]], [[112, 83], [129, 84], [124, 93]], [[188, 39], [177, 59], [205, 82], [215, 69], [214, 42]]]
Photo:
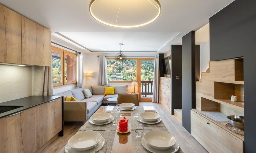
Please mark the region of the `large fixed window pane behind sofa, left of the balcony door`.
[[107, 59], [108, 81], [137, 81], [137, 60], [116, 61]]

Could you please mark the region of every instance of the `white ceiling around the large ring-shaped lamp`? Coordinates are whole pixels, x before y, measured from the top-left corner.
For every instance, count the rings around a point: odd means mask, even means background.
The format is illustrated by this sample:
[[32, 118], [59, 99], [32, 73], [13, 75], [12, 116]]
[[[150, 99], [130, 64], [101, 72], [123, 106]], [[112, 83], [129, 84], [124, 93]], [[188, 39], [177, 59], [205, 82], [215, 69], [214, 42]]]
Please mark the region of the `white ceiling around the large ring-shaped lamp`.
[[210, 16], [232, 1], [159, 0], [159, 18], [137, 28], [99, 23], [89, 13], [90, 0], [0, 0], [0, 3], [92, 51], [118, 51], [118, 43], [124, 43], [124, 51], [163, 53], [171, 44], [181, 44], [182, 36], [207, 24]]

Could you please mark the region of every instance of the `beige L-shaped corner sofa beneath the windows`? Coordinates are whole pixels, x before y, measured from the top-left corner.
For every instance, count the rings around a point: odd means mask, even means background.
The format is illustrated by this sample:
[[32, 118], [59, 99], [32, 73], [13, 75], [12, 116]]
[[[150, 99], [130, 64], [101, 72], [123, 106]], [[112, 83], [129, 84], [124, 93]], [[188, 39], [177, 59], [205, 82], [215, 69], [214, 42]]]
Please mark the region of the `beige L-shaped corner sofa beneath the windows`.
[[[97, 111], [102, 103], [107, 103], [107, 99], [111, 97], [117, 97], [118, 94], [127, 94], [127, 85], [117, 85], [115, 87], [115, 95], [106, 95], [105, 86], [84, 86], [83, 88], [77, 88], [68, 90], [55, 95], [64, 97], [64, 121], [69, 122], [85, 122], [91, 115]], [[92, 93], [92, 97], [85, 98], [83, 89], [89, 89]], [[66, 97], [75, 97], [77, 101], [66, 101]]]

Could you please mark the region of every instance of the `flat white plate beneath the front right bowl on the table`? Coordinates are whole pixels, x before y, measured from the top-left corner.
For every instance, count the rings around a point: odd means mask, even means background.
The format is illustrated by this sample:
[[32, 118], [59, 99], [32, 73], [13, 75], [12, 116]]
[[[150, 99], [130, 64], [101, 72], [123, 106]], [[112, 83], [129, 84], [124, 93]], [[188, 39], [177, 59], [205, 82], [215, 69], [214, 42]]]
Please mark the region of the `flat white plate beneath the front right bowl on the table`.
[[151, 151], [153, 153], [175, 153], [180, 149], [180, 145], [178, 142], [176, 142], [171, 148], [166, 149], [166, 150], [158, 150], [155, 148], [150, 147], [150, 145], [146, 142], [144, 137], [141, 140], [142, 146], [147, 149], [148, 151]]

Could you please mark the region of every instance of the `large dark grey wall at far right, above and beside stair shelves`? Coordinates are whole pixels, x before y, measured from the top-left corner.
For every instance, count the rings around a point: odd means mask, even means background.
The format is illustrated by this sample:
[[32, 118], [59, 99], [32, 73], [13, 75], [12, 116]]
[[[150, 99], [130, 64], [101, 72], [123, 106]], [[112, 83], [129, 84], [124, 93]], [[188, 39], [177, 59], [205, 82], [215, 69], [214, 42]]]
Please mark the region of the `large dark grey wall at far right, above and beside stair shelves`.
[[236, 0], [210, 18], [210, 60], [244, 57], [244, 152], [256, 144], [256, 1]]

